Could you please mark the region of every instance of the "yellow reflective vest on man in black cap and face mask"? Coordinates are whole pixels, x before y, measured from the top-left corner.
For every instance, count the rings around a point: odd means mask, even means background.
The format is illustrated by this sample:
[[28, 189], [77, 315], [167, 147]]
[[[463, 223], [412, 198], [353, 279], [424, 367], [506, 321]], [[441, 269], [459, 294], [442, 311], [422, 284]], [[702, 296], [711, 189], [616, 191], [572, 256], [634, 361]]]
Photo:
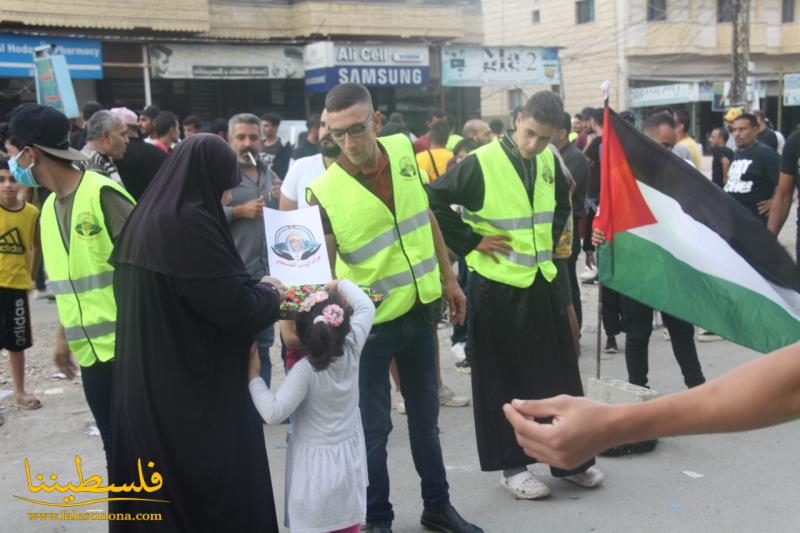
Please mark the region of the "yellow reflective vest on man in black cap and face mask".
[[42, 253], [56, 296], [58, 318], [78, 364], [92, 366], [114, 357], [117, 305], [114, 267], [108, 262], [114, 244], [105, 225], [100, 191], [110, 187], [134, 203], [121, 186], [96, 172], [83, 174], [72, 205], [69, 250], [59, 230], [55, 194], [42, 206]]

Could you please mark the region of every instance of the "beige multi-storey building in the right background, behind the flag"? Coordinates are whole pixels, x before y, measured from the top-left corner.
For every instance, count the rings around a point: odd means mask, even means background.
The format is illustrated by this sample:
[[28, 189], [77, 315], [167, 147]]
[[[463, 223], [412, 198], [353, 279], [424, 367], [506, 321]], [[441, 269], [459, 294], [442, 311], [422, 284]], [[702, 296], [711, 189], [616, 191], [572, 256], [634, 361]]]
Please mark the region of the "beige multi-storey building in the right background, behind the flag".
[[[640, 113], [658, 105], [685, 105], [695, 135], [721, 122], [712, 106], [715, 82], [730, 82], [732, 24], [728, 0], [484, 0], [487, 45], [559, 47], [565, 105], [576, 113], [602, 105], [610, 82], [617, 110]], [[783, 107], [782, 78], [800, 72], [800, 2], [752, 0], [750, 12], [752, 108], [781, 129], [800, 122], [800, 108]], [[485, 115], [506, 115], [542, 87], [482, 91]]]

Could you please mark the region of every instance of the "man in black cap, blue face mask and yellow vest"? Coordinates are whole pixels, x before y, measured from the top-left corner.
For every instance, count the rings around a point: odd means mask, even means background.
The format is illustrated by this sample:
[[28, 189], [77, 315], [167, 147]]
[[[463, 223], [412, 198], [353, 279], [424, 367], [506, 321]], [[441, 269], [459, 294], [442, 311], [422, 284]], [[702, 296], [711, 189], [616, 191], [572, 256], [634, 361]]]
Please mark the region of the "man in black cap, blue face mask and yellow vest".
[[74, 377], [70, 352], [75, 355], [108, 458], [117, 316], [108, 258], [134, 200], [109, 178], [79, 169], [76, 163], [88, 156], [70, 148], [69, 120], [52, 107], [18, 106], [11, 113], [9, 134], [6, 148], [14, 156], [9, 165], [14, 179], [53, 191], [42, 206], [42, 253], [61, 335], [69, 346], [56, 350], [56, 365]]

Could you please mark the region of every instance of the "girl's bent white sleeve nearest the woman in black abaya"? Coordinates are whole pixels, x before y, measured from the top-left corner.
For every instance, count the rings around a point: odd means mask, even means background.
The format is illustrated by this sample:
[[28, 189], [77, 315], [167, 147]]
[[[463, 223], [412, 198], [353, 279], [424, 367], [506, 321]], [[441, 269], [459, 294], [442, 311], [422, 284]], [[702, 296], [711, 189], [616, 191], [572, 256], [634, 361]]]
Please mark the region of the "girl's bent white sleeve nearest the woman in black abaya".
[[313, 370], [308, 362], [299, 361], [292, 367], [277, 394], [269, 390], [261, 377], [250, 380], [250, 397], [265, 423], [280, 424], [294, 413], [308, 394], [311, 372]]

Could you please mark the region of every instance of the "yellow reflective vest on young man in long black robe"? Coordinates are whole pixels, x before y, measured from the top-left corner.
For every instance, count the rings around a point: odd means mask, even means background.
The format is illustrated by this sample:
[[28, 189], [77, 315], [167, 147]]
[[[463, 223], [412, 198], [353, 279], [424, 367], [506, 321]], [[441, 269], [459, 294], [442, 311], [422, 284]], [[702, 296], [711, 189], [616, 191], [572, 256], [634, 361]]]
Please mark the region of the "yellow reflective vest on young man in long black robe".
[[556, 276], [553, 264], [553, 215], [556, 207], [555, 155], [546, 148], [536, 156], [533, 205], [500, 141], [473, 152], [483, 172], [485, 195], [478, 211], [462, 218], [480, 235], [505, 235], [513, 252], [496, 254], [499, 263], [477, 250], [467, 264], [481, 276], [514, 287], [530, 287], [541, 270], [547, 281]]

